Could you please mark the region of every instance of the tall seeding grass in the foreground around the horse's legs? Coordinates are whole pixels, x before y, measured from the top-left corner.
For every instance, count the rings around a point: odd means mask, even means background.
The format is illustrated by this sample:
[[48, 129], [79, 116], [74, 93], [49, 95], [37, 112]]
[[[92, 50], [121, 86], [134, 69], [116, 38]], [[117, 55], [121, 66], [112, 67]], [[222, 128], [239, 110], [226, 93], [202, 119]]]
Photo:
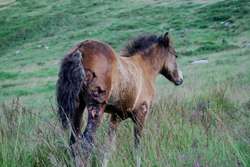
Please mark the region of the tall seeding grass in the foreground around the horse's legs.
[[[230, 100], [228, 85], [211, 85], [209, 93], [181, 96], [187, 87], [156, 98], [143, 131], [142, 166], [250, 165], [250, 110]], [[61, 129], [55, 105], [27, 109], [13, 100], [1, 104], [0, 163], [3, 166], [74, 165], [69, 131]], [[43, 113], [49, 113], [46, 116]], [[86, 114], [86, 113], [85, 113]], [[85, 119], [86, 120], [86, 119]], [[85, 127], [86, 121], [83, 121]], [[95, 135], [89, 165], [103, 160], [108, 115]], [[240, 129], [240, 131], [239, 131]], [[133, 166], [133, 124], [121, 123], [109, 166]], [[82, 157], [77, 157], [81, 163]]]

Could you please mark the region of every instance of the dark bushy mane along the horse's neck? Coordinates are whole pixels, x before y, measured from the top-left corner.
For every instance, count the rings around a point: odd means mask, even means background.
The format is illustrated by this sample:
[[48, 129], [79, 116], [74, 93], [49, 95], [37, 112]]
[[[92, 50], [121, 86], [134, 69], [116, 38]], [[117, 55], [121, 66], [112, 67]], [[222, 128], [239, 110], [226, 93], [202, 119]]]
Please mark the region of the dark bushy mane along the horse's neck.
[[[170, 41], [170, 39], [169, 39]], [[135, 53], [144, 52], [150, 46], [154, 44], [160, 44], [161, 46], [168, 47], [169, 43], [166, 44], [164, 42], [164, 35], [157, 34], [142, 34], [137, 37], [133, 37], [132, 41], [127, 44], [127, 46], [123, 49], [121, 56], [123, 57], [131, 57]]]

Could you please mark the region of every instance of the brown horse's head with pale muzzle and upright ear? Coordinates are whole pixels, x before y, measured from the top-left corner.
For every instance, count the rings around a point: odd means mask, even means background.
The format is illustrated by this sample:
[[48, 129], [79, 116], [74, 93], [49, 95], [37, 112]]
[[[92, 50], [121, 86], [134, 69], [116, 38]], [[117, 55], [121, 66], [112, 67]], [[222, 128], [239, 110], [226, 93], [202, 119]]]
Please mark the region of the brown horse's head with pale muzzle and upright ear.
[[167, 79], [173, 82], [175, 85], [181, 85], [184, 79], [183, 73], [177, 64], [177, 53], [175, 52], [172, 45], [170, 45], [170, 39], [168, 32], [164, 35], [164, 44], [167, 46], [167, 50], [164, 52], [163, 67], [161, 74]]

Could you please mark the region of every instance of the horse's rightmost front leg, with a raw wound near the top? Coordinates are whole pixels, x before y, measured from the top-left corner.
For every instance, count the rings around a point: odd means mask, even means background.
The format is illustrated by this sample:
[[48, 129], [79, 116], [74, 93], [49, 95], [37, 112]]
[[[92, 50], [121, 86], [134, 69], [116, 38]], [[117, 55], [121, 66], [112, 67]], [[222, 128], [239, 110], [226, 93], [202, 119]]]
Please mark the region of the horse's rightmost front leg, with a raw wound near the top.
[[142, 130], [144, 128], [148, 113], [148, 104], [142, 103], [136, 113], [133, 114], [132, 120], [134, 122], [134, 159], [136, 166], [141, 166], [142, 153]]

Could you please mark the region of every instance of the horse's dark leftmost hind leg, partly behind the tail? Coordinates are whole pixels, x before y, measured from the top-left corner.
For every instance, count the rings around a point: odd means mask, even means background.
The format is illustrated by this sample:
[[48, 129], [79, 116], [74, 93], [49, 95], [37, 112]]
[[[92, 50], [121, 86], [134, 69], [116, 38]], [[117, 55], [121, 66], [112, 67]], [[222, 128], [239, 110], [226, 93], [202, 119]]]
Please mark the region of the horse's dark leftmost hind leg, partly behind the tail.
[[[86, 107], [86, 104], [82, 98], [82, 93], [80, 93], [79, 99], [80, 99], [79, 106], [76, 108], [75, 114], [73, 115], [73, 118], [71, 120], [72, 132], [71, 132], [71, 136], [70, 136], [70, 147], [71, 147], [72, 155], [74, 157], [75, 157], [75, 151], [79, 150], [78, 145], [75, 146], [75, 143], [79, 139], [81, 139], [82, 115], [83, 115], [84, 109]], [[80, 153], [79, 151], [77, 151], [77, 152], [78, 152], [78, 154]]]

